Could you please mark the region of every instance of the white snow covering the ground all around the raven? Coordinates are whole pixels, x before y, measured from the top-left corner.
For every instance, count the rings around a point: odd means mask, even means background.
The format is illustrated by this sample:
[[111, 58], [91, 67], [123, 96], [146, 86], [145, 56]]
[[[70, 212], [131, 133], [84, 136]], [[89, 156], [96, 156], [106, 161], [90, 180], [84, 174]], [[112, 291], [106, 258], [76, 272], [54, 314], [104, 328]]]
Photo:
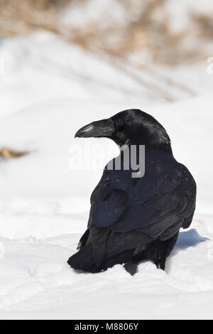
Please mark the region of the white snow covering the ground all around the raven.
[[[174, 70], [200, 95], [171, 104], [153, 101], [109, 63], [44, 33], [6, 41], [0, 57], [6, 65], [0, 147], [30, 151], [0, 161], [0, 318], [213, 318], [213, 75], [207, 64]], [[175, 157], [197, 181], [195, 218], [180, 233], [165, 272], [146, 262], [133, 277], [121, 265], [79, 274], [66, 262], [87, 225], [102, 168], [71, 171], [69, 150], [84, 147], [73, 139], [80, 126], [130, 107], [153, 114], [168, 130]], [[91, 150], [108, 147], [101, 166], [116, 152], [107, 139], [88, 142]]]

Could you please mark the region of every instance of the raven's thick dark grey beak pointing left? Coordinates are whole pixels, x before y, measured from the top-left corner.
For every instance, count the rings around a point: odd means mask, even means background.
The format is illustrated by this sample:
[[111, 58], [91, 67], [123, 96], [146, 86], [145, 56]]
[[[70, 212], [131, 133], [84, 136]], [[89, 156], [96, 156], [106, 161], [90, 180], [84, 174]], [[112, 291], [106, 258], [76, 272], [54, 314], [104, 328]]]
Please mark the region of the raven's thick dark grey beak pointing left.
[[83, 126], [76, 132], [75, 137], [111, 137], [112, 134], [114, 134], [114, 122], [111, 119], [102, 119]]

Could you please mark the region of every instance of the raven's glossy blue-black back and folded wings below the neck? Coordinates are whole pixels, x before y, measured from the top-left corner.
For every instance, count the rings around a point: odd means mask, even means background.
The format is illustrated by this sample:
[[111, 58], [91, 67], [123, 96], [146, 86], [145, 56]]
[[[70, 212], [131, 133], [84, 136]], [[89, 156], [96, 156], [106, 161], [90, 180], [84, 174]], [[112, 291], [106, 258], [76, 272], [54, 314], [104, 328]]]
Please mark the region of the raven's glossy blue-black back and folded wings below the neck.
[[195, 211], [196, 184], [180, 163], [170, 173], [151, 171], [133, 180], [125, 171], [104, 171], [91, 196], [89, 242], [99, 266], [104, 255], [175, 235]]

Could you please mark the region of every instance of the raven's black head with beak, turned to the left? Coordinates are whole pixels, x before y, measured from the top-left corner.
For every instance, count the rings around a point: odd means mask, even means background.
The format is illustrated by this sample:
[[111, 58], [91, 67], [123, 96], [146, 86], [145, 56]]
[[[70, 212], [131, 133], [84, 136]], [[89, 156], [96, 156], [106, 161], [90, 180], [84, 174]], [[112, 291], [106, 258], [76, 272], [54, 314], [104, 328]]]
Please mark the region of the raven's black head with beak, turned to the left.
[[119, 146], [170, 147], [170, 138], [163, 126], [139, 109], [124, 110], [109, 119], [92, 122], [78, 130], [75, 137], [107, 137]]

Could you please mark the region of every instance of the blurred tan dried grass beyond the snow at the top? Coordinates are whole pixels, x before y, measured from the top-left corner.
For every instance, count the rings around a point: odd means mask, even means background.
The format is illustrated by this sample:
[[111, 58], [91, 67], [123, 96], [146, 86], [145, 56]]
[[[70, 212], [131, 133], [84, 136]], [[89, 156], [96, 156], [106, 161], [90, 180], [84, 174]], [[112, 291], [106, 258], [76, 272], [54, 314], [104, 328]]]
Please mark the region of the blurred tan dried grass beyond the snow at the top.
[[[196, 95], [190, 87], [159, 75], [146, 63], [173, 66], [204, 58], [205, 50], [200, 45], [204, 45], [207, 39], [212, 41], [213, 35], [210, 14], [193, 14], [191, 29], [175, 33], [170, 28], [166, 0], [114, 0], [123, 8], [125, 24], [104, 13], [104, 25], [99, 19], [87, 21], [82, 28], [61, 26], [60, 9], [80, 1], [87, 0], [0, 0], [0, 36], [16, 36], [36, 29], [50, 31], [68, 43], [80, 45], [87, 52], [105, 58], [146, 87], [152, 95], [173, 101], [175, 97], [168, 93], [171, 86], [187, 95]], [[185, 43], [185, 38], [192, 45]], [[130, 62], [129, 55], [137, 55], [140, 61]], [[141, 73], [146, 73], [150, 80], [143, 80]], [[85, 80], [81, 75], [79, 77]], [[92, 81], [92, 78], [87, 77], [86, 80]], [[102, 84], [108, 85], [107, 82]]]

